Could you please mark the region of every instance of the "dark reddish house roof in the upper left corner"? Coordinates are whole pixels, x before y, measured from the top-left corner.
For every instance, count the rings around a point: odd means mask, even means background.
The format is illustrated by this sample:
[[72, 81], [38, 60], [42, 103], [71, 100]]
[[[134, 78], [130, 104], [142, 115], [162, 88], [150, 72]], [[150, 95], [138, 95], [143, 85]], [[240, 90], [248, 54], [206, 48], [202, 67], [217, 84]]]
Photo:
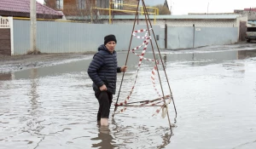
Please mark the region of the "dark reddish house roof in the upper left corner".
[[[38, 19], [62, 19], [63, 14], [44, 6], [41, 3], [37, 5]], [[1, 0], [0, 1], [0, 15], [30, 18], [30, 0]]]

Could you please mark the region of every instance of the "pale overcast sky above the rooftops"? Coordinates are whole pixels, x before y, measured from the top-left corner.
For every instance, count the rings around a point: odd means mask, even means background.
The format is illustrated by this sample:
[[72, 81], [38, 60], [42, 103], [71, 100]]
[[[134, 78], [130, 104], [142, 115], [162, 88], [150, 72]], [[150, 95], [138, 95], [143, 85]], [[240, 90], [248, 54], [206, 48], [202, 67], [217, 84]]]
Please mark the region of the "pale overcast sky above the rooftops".
[[[44, 0], [37, 0], [43, 3]], [[145, 0], [147, 2], [159, 0]], [[234, 9], [256, 8], [256, 0], [167, 0], [172, 14], [233, 13]], [[162, 3], [161, 3], [162, 4]]]

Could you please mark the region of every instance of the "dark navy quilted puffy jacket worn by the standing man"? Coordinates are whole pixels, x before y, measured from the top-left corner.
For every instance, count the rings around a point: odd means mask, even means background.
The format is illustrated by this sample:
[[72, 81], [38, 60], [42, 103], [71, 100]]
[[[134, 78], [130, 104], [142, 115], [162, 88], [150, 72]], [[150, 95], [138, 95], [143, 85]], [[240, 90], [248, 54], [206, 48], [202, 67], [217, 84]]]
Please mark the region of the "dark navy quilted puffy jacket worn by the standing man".
[[105, 84], [108, 91], [115, 94], [117, 72], [121, 72], [115, 51], [111, 54], [102, 44], [93, 56], [87, 72], [93, 81], [92, 87], [95, 91]]

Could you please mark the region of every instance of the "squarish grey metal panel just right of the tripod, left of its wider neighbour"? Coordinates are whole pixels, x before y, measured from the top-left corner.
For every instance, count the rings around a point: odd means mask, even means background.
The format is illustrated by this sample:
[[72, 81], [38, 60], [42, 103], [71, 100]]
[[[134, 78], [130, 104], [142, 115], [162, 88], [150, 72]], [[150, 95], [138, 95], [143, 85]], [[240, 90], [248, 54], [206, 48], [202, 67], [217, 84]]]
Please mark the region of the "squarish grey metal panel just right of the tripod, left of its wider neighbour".
[[168, 27], [167, 49], [193, 47], [193, 27]]

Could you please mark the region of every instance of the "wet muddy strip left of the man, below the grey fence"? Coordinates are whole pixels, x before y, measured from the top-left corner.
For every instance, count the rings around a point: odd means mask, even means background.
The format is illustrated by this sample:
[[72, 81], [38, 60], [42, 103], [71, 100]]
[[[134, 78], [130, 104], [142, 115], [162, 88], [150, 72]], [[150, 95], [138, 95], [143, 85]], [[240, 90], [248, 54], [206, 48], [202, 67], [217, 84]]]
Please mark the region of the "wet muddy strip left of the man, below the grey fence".
[[14, 56], [0, 54], [0, 73], [15, 72], [33, 67], [53, 66], [65, 63], [67, 60], [82, 60], [92, 54], [22, 54]]

